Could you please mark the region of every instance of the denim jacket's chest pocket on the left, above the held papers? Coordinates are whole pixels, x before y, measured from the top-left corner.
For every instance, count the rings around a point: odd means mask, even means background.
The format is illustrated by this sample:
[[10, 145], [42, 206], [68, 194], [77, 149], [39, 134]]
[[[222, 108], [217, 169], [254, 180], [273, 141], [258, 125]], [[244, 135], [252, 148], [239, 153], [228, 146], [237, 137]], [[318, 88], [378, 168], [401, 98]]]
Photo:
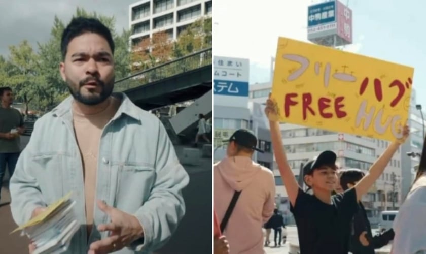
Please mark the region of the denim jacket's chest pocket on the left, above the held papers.
[[45, 202], [51, 204], [64, 195], [63, 173], [65, 155], [60, 153], [36, 154], [32, 158], [33, 172]]

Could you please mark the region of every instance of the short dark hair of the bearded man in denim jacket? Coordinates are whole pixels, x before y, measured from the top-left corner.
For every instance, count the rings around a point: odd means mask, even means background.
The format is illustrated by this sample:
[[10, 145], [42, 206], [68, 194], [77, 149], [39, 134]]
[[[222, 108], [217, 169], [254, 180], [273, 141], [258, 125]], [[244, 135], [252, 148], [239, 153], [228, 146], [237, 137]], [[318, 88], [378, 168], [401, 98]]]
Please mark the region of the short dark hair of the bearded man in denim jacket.
[[105, 38], [110, 45], [111, 52], [114, 54], [115, 45], [110, 29], [98, 19], [77, 17], [69, 22], [62, 33], [61, 52], [63, 59], [65, 59], [69, 42], [85, 33], [94, 33]]

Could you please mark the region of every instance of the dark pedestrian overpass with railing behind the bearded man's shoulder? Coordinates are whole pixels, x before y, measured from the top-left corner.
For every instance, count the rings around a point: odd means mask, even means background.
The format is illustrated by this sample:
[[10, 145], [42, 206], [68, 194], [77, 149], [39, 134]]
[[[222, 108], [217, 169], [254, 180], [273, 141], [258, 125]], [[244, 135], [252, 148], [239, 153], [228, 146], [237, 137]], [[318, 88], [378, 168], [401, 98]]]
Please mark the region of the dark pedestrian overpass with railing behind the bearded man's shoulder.
[[204, 49], [117, 80], [114, 91], [145, 110], [195, 100], [211, 90], [211, 62], [211, 48]]

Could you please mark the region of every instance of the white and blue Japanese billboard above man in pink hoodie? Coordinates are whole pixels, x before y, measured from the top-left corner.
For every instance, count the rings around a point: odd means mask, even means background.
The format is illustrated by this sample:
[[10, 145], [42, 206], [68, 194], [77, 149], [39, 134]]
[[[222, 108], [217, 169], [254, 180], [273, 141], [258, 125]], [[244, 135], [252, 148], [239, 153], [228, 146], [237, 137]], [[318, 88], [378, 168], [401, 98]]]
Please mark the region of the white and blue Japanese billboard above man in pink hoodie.
[[[224, 56], [213, 57], [214, 104], [247, 107], [249, 60]], [[232, 97], [233, 99], [231, 99]]]

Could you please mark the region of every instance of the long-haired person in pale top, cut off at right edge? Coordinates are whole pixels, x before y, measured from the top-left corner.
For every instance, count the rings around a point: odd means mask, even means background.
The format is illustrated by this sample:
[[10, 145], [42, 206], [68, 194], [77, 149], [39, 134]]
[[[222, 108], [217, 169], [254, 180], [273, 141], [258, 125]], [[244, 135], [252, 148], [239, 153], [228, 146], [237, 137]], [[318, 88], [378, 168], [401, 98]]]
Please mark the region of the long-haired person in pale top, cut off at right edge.
[[426, 146], [424, 144], [423, 142], [416, 177], [395, 218], [392, 254], [426, 253], [426, 219], [424, 218], [426, 214]]

